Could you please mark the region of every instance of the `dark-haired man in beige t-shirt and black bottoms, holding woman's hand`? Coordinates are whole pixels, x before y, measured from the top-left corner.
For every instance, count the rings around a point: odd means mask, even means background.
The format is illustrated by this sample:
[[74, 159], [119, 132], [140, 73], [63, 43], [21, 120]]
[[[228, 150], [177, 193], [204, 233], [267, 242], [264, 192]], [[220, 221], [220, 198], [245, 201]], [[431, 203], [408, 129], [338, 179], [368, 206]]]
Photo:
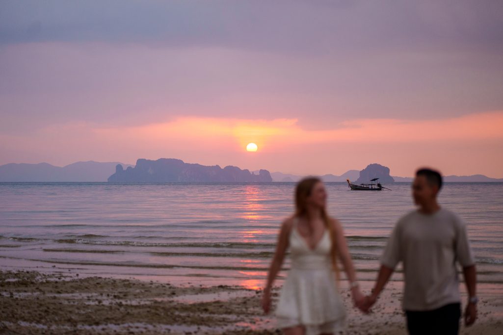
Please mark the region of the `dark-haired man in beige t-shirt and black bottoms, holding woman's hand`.
[[437, 171], [416, 172], [412, 195], [419, 208], [398, 220], [382, 255], [375, 287], [362, 306], [369, 311], [397, 264], [403, 262], [403, 309], [411, 335], [458, 334], [461, 299], [456, 262], [463, 268], [469, 296], [465, 324], [473, 324], [477, 315], [475, 262], [465, 223], [439, 206], [441, 187]]

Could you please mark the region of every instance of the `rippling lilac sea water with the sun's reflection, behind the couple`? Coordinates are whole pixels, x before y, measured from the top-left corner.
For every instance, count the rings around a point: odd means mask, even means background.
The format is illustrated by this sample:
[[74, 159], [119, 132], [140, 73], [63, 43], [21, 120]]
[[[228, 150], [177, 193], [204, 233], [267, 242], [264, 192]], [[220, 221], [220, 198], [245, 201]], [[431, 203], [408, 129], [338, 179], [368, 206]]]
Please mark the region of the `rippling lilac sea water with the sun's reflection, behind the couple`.
[[[374, 280], [410, 184], [327, 183], [360, 280]], [[0, 269], [200, 285], [264, 284], [294, 183], [0, 183]], [[442, 206], [467, 222], [478, 281], [503, 283], [503, 184], [447, 183]], [[280, 277], [284, 278], [289, 261]], [[399, 269], [393, 280], [401, 280]], [[280, 282], [281, 282], [280, 278]]]

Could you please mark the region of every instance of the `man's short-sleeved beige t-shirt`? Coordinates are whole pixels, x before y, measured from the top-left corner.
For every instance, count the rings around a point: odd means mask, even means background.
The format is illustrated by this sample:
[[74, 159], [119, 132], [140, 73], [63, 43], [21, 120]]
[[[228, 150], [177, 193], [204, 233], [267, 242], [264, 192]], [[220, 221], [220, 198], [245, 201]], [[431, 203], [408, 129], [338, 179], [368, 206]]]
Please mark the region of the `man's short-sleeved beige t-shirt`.
[[460, 302], [456, 262], [474, 265], [463, 220], [441, 208], [433, 214], [413, 211], [396, 223], [381, 257], [394, 269], [403, 262], [403, 309], [432, 310]]

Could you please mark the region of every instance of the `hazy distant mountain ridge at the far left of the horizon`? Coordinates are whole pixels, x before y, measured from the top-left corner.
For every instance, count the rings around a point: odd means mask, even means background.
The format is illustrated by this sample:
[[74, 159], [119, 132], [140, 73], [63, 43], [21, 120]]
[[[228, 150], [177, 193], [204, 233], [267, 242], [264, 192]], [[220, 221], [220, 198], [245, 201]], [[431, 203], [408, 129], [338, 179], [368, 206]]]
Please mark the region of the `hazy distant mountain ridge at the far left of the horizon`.
[[90, 160], [63, 167], [48, 163], [11, 163], [0, 165], [0, 182], [106, 182], [118, 163]]

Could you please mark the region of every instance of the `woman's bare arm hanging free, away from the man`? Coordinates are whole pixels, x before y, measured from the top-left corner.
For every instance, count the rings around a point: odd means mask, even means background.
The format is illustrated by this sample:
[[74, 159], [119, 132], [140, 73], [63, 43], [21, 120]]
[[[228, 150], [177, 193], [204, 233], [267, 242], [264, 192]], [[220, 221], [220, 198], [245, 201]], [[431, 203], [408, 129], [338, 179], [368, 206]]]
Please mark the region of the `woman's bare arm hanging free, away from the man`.
[[273, 261], [269, 267], [269, 274], [267, 276], [266, 287], [264, 288], [264, 295], [262, 297], [262, 308], [264, 312], [269, 313], [271, 307], [271, 288], [273, 286], [276, 276], [281, 270], [283, 265], [283, 260], [285, 259], [286, 249], [288, 248], [288, 236], [290, 236], [290, 231], [292, 229], [292, 219], [285, 220], [280, 229], [278, 235], [278, 243], [276, 244], [276, 252], [274, 253]]

